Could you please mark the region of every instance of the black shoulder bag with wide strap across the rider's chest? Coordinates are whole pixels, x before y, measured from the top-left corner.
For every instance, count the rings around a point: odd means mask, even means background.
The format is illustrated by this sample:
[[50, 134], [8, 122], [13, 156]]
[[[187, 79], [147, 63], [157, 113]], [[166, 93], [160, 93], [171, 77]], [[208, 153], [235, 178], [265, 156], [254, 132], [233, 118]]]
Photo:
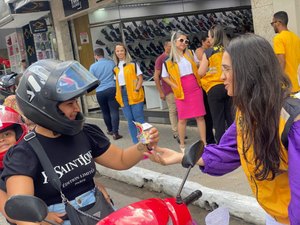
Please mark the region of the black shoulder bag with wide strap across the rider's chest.
[[75, 208], [63, 194], [60, 179], [55, 173], [52, 163], [44, 151], [43, 146], [36, 138], [36, 134], [30, 132], [24, 137], [24, 140], [30, 144], [38, 156], [40, 163], [48, 176], [49, 183], [60, 192], [62, 203], [65, 204], [67, 213], [67, 217], [64, 217], [65, 220], [70, 220], [72, 225], [95, 225], [101, 219], [114, 212], [112, 205], [106, 201], [98, 188], [95, 188], [96, 201], [94, 203], [82, 208]]

